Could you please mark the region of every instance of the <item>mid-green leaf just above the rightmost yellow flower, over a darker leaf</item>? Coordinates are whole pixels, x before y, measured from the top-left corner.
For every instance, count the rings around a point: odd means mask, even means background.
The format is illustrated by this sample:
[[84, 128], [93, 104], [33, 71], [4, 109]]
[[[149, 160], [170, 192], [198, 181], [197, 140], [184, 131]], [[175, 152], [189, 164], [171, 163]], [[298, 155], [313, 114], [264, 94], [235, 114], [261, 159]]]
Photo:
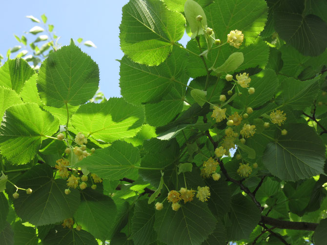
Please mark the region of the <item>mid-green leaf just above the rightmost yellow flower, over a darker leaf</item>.
[[307, 81], [300, 81], [291, 77], [285, 78], [281, 82], [284, 104], [292, 109], [301, 110], [310, 106], [317, 95], [319, 77]]

